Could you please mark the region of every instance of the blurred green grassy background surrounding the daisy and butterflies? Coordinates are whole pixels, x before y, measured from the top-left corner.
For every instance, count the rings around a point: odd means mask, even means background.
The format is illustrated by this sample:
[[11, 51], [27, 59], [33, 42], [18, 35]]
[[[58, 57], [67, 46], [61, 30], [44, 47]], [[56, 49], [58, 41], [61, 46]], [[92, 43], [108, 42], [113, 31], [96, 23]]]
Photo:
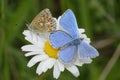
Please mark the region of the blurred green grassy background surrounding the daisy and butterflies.
[[45, 8], [54, 17], [72, 9], [100, 53], [79, 67], [78, 78], [65, 71], [58, 80], [120, 80], [120, 0], [0, 0], [0, 80], [54, 80], [52, 70], [38, 76], [37, 65], [28, 68], [30, 58], [20, 49], [28, 43], [25, 24]]

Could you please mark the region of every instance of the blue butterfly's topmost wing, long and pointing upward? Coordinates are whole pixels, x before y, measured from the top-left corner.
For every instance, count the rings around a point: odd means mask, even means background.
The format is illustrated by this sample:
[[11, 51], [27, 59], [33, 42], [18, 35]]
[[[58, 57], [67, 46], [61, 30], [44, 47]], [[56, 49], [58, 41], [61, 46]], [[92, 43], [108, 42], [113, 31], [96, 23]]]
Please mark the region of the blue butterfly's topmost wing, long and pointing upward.
[[73, 38], [79, 37], [76, 18], [70, 9], [61, 16], [59, 23]]

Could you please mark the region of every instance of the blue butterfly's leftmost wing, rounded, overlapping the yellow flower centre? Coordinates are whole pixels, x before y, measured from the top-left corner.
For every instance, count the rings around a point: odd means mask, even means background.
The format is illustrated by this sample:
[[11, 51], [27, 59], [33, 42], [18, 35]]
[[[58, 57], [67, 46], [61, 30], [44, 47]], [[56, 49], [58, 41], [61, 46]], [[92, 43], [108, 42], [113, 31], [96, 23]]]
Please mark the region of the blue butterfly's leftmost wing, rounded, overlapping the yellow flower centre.
[[64, 31], [54, 31], [50, 34], [50, 43], [55, 48], [60, 48], [72, 40], [72, 37]]

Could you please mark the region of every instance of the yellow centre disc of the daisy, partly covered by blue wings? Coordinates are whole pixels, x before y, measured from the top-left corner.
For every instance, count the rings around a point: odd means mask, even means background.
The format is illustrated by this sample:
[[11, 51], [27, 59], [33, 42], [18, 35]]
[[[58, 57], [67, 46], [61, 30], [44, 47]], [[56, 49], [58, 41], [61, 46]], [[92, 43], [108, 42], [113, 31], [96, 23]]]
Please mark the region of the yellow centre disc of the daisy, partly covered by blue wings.
[[52, 58], [58, 59], [58, 49], [53, 48], [49, 41], [45, 42], [44, 52]]

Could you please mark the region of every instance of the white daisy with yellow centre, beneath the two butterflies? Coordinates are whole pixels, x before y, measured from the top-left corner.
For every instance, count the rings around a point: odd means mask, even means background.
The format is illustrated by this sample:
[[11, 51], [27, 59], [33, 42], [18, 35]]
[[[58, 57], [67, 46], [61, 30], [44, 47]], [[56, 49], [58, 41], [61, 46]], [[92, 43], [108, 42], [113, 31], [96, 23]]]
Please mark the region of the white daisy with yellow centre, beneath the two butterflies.
[[[79, 29], [80, 38], [83, 38], [83, 41], [89, 44], [90, 39], [87, 38], [85, 34], [82, 34], [83, 32], [85, 32], [84, 29]], [[56, 79], [59, 78], [60, 73], [65, 69], [71, 72], [75, 77], [78, 77], [80, 73], [77, 66], [92, 62], [90, 58], [78, 59], [76, 57], [76, 61], [71, 66], [65, 66], [58, 59], [59, 50], [54, 49], [50, 45], [48, 38], [44, 37], [42, 34], [37, 35], [30, 30], [25, 30], [23, 34], [25, 35], [25, 39], [31, 44], [23, 46], [22, 51], [27, 52], [25, 53], [26, 57], [33, 56], [27, 66], [32, 67], [36, 63], [39, 63], [36, 69], [38, 75], [54, 67], [53, 77]]]

